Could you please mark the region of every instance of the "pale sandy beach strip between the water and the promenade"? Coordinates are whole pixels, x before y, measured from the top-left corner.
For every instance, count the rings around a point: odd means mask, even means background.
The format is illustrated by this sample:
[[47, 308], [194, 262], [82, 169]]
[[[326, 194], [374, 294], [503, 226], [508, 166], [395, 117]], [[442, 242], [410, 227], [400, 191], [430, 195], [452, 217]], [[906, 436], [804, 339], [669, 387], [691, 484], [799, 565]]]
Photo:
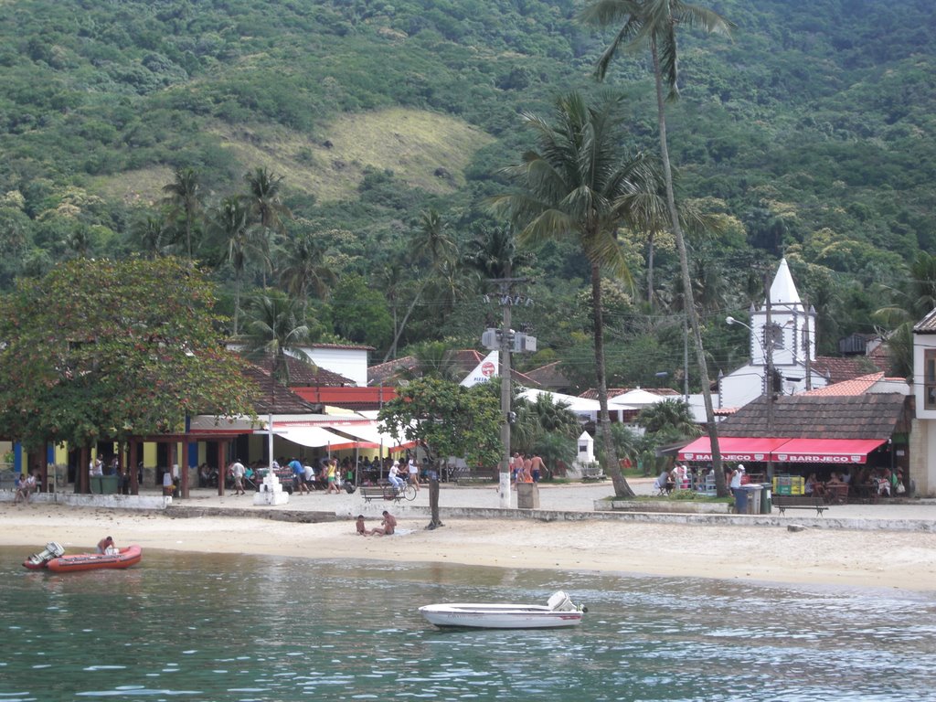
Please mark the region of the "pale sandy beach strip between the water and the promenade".
[[[402, 534], [362, 537], [354, 521], [303, 524], [270, 519], [175, 519], [62, 505], [3, 505], [0, 546], [23, 558], [49, 541], [68, 552], [111, 534], [118, 545], [195, 552], [249, 552], [295, 558], [443, 562], [668, 577], [720, 578], [840, 587], [936, 591], [936, 534], [844, 532], [785, 527], [400, 519]], [[377, 526], [369, 519], [368, 526]], [[233, 533], [249, 539], [232, 538]]]

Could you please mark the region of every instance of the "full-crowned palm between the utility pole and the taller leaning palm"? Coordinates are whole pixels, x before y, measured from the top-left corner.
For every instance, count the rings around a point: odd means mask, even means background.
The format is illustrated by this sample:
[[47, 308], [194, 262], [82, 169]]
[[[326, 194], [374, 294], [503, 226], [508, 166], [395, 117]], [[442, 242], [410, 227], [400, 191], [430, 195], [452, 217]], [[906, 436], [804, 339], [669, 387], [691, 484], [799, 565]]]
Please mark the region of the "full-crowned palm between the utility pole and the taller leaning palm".
[[595, 381], [607, 472], [615, 493], [630, 496], [634, 492], [618, 464], [607, 411], [601, 280], [605, 269], [632, 283], [617, 232], [622, 225], [638, 224], [639, 211], [632, 209], [636, 198], [654, 193], [657, 178], [646, 158], [627, 154], [622, 147], [621, 103], [621, 96], [608, 93], [590, 107], [572, 93], [558, 100], [555, 124], [525, 114], [524, 123], [536, 132], [539, 151], [527, 152], [522, 164], [505, 169], [517, 189], [494, 197], [492, 207], [522, 227], [521, 243], [574, 236], [589, 261]]

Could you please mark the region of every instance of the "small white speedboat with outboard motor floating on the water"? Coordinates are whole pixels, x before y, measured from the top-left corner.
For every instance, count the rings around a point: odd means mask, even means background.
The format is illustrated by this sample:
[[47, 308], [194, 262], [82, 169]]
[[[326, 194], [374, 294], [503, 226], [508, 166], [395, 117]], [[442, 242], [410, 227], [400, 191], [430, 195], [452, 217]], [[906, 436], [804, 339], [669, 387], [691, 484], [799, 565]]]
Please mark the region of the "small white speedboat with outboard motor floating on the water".
[[494, 605], [462, 602], [419, 607], [426, 620], [436, 626], [475, 629], [549, 629], [578, 626], [586, 608], [576, 605], [565, 592], [554, 592], [546, 605]]

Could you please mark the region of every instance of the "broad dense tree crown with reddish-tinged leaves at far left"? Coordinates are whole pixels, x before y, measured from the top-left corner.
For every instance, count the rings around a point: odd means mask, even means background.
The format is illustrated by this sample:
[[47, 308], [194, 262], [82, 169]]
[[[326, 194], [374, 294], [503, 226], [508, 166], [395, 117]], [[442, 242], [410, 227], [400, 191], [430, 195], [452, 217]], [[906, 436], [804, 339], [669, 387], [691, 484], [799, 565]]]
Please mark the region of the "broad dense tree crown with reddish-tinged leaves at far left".
[[213, 285], [177, 258], [76, 259], [0, 299], [0, 426], [29, 448], [253, 414]]

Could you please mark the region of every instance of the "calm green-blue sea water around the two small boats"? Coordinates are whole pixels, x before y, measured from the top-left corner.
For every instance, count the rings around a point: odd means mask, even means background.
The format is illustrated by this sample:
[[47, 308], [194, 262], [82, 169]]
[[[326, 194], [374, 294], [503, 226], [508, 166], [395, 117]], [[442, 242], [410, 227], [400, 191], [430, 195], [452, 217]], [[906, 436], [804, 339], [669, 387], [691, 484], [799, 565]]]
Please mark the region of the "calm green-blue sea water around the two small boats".
[[[0, 548], [0, 702], [936, 695], [936, 592], [154, 551], [55, 576], [26, 555]], [[439, 630], [417, 612], [556, 590], [588, 605], [577, 630]]]

